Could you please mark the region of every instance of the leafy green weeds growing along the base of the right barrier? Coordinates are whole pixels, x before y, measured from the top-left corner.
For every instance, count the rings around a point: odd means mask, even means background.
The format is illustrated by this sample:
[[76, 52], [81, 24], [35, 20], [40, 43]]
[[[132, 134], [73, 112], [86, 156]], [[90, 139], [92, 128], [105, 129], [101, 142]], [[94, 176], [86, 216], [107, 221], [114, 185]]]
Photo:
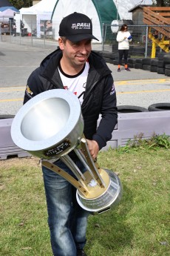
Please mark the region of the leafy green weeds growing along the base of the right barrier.
[[170, 136], [166, 134], [154, 134], [149, 139], [143, 139], [143, 134], [134, 137], [134, 140], [129, 140], [125, 147], [118, 148], [118, 151], [129, 152], [138, 150], [149, 150], [150, 148], [158, 150], [159, 148], [170, 149]]

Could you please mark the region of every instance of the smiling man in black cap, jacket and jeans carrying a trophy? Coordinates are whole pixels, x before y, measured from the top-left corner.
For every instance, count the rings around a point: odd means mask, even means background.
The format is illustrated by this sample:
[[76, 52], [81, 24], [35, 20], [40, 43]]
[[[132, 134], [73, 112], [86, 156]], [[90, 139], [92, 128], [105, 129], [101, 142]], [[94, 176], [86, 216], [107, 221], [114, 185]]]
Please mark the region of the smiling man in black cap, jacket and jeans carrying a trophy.
[[[111, 70], [101, 56], [91, 52], [92, 22], [82, 13], [65, 17], [59, 28], [58, 50], [47, 56], [30, 75], [24, 103], [38, 93], [64, 88], [78, 96], [84, 116], [84, 135], [93, 159], [112, 137], [117, 123], [117, 108]], [[55, 111], [55, 109], [54, 109]], [[97, 129], [97, 120], [101, 122]], [[69, 156], [83, 172], [84, 166], [75, 156]], [[72, 171], [58, 160], [60, 168]], [[78, 206], [75, 188], [67, 180], [47, 168], [42, 168], [47, 197], [48, 223], [52, 252], [55, 256], [86, 256], [86, 224], [88, 211]]]

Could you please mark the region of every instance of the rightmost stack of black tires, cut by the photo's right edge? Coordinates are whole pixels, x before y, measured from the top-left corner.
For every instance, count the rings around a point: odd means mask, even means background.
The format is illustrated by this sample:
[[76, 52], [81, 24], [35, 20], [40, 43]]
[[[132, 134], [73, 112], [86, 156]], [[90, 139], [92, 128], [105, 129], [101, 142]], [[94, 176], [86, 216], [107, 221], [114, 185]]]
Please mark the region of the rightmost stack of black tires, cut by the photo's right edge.
[[158, 54], [157, 73], [170, 76], [170, 53]]

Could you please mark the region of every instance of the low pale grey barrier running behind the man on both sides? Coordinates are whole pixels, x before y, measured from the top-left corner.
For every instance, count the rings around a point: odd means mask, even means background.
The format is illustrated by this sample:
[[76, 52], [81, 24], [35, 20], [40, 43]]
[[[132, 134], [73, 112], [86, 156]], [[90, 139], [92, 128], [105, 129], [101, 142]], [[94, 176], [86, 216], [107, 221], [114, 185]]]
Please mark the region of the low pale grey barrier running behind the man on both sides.
[[[9, 156], [30, 157], [27, 151], [14, 144], [10, 136], [12, 122], [11, 118], [0, 119], [0, 160], [6, 160]], [[118, 114], [118, 125], [112, 132], [112, 139], [102, 151], [123, 147], [140, 134], [143, 134], [143, 139], [149, 139], [154, 134], [170, 136], [170, 111]]]

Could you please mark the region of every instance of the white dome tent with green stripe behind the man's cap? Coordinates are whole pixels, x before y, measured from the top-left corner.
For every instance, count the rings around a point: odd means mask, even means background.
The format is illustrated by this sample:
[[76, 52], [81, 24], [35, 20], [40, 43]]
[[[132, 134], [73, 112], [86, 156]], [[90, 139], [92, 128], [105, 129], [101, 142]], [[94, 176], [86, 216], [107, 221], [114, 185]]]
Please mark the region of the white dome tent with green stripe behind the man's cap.
[[[152, 0], [144, 0], [152, 4]], [[140, 4], [140, 0], [58, 0], [52, 13], [52, 24], [55, 29], [55, 39], [58, 39], [58, 30], [61, 19], [73, 12], [84, 13], [92, 19], [93, 34], [102, 42], [102, 23], [111, 24], [115, 19], [131, 19], [129, 13], [132, 7]], [[96, 41], [94, 41], [96, 42]]]

